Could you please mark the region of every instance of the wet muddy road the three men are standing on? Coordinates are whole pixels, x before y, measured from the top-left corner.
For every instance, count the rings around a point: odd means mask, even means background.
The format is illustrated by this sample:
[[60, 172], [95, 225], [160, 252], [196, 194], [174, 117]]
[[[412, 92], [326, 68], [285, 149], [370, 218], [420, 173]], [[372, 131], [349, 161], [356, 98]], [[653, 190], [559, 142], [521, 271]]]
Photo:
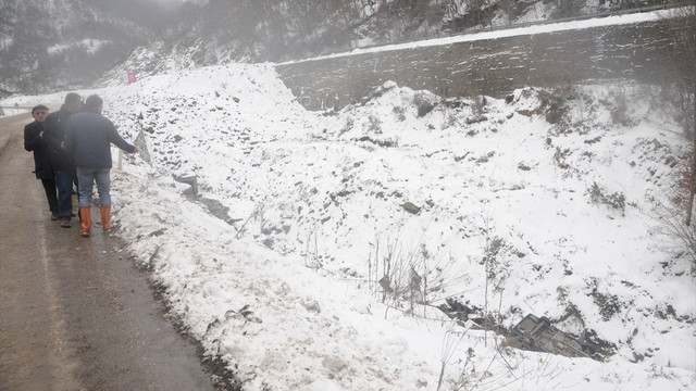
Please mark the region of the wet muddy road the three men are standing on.
[[0, 391], [212, 390], [117, 238], [50, 220], [30, 119], [0, 117]]

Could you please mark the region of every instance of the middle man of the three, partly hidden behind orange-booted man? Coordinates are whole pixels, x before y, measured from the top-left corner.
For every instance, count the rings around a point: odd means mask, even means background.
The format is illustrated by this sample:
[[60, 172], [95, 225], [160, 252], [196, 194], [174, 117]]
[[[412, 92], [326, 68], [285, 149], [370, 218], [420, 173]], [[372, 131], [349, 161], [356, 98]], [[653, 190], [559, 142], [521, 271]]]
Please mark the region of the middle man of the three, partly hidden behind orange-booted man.
[[73, 184], [77, 184], [75, 176], [75, 164], [72, 154], [61, 148], [61, 143], [65, 140], [65, 129], [67, 119], [77, 113], [83, 105], [82, 97], [75, 92], [65, 96], [65, 103], [61, 110], [49, 114], [46, 118], [46, 134], [51, 146], [51, 164], [55, 172], [55, 185], [58, 187], [58, 215], [61, 220], [61, 227], [70, 228], [70, 218], [73, 214]]

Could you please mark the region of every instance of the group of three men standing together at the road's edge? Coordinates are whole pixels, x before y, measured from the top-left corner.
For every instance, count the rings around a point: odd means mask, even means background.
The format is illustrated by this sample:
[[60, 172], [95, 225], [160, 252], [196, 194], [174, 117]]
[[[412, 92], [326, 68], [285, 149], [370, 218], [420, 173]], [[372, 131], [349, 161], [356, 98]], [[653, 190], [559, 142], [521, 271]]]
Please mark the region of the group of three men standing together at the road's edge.
[[75, 92], [65, 96], [60, 111], [49, 114], [39, 104], [32, 109], [34, 122], [24, 127], [24, 148], [34, 152], [35, 174], [41, 179], [51, 219], [63, 228], [71, 227], [73, 184], [77, 189], [79, 235], [91, 234], [91, 197], [97, 184], [101, 226], [104, 232], [111, 224], [111, 144], [125, 152], [137, 153], [126, 142], [113, 123], [102, 115], [103, 100], [97, 96], [83, 99]]

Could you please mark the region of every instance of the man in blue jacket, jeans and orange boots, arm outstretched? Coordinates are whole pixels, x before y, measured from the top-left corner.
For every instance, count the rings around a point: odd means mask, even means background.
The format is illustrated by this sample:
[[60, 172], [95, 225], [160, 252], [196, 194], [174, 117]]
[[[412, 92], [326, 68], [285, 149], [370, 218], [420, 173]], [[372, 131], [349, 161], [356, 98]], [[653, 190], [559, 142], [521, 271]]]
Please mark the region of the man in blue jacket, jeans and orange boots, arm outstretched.
[[64, 148], [73, 153], [79, 184], [79, 235], [91, 232], [91, 191], [95, 181], [99, 192], [101, 227], [104, 232], [113, 228], [111, 224], [111, 144], [125, 152], [136, 153], [138, 149], [126, 142], [113, 123], [101, 115], [103, 100], [96, 94], [85, 100], [82, 113], [73, 115], [67, 123]]

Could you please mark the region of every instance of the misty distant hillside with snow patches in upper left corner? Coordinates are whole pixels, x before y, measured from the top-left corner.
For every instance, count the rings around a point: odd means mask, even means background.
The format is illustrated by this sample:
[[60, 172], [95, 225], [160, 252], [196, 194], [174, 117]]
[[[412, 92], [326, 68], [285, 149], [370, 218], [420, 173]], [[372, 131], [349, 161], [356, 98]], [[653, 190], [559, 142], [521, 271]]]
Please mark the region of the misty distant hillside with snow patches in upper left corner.
[[0, 0], [0, 96], [91, 86], [164, 15], [142, 0]]

